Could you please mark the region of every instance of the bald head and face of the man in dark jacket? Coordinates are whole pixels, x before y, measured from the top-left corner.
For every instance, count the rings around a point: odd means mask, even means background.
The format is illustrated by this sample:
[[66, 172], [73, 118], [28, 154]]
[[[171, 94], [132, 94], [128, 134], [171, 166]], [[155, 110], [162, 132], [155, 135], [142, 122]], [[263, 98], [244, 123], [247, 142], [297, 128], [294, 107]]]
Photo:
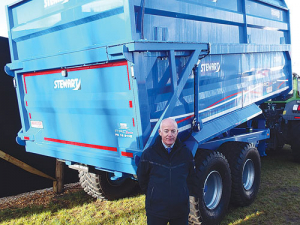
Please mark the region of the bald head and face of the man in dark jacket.
[[175, 121], [165, 119], [161, 124], [161, 129], [158, 130], [159, 135], [165, 145], [170, 147], [177, 138], [178, 129]]

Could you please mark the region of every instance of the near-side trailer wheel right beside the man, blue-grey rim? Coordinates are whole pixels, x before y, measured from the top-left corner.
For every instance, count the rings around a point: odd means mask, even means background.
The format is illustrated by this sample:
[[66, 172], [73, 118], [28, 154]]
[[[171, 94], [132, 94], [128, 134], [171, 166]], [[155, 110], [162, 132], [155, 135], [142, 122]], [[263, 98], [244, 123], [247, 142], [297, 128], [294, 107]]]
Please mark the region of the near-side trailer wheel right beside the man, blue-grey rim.
[[220, 153], [198, 149], [196, 179], [199, 198], [190, 197], [190, 224], [219, 224], [230, 200], [231, 177], [226, 158]]

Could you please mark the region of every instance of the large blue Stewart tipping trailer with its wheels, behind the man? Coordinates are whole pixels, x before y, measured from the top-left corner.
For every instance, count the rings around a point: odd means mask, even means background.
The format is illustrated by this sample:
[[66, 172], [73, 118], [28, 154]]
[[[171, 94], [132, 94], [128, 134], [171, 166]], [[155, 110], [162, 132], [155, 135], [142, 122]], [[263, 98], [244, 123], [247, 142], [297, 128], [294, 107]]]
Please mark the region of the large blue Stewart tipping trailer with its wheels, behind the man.
[[20, 0], [6, 11], [26, 151], [116, 199], [173, 117], [203, 187], [190, 222], [254, 201], [270, 137], [260, 107], [292, 90], [284, 0]]

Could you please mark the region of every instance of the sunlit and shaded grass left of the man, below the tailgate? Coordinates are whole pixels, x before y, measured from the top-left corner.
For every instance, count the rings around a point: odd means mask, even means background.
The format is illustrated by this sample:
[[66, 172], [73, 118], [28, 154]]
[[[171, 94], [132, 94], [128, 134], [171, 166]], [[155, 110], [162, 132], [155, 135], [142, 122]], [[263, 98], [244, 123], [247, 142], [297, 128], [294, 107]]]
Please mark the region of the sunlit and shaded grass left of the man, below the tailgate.
[[143, 195], [100, 201], [85, 192], [60, 196], [46, 206], [0, 211], [0, 224], [145, 224]]

